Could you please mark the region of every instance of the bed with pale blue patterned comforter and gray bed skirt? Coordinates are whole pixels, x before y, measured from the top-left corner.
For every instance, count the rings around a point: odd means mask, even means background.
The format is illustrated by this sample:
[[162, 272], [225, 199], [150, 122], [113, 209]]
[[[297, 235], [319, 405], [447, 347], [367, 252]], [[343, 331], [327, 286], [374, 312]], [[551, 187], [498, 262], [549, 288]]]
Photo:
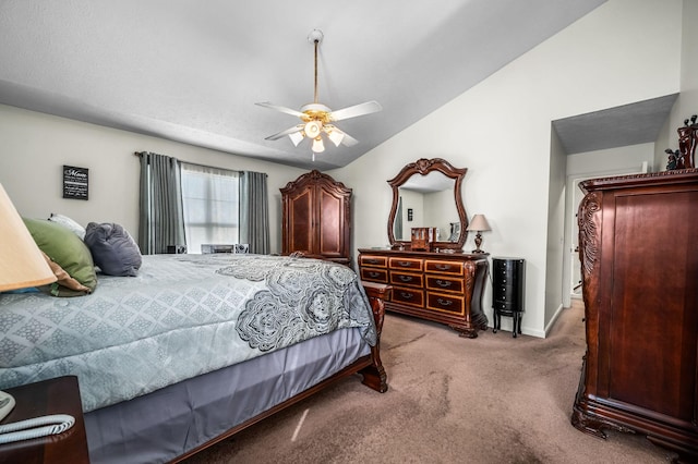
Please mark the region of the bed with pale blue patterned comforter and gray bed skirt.
[[75, 375], [94, 463], [179, 461], [337, 379], [386, 391], [387, 291], [318, 259], [143, 256], [86, 296], [0, 294], [0, 389]]

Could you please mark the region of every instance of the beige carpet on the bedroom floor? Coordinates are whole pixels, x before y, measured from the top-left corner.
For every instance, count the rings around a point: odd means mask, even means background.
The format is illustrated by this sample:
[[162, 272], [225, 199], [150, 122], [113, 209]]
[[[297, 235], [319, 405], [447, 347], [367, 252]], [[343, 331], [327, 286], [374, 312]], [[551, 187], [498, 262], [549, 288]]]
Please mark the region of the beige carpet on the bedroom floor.
[[474, 340], [388, 314], [389, 390], [358, 378], [188, 460], [197, 463], [666, 463], [643, 437], [575, 429], [585, 351], [580, 302], [545, 339], [491, 330]]

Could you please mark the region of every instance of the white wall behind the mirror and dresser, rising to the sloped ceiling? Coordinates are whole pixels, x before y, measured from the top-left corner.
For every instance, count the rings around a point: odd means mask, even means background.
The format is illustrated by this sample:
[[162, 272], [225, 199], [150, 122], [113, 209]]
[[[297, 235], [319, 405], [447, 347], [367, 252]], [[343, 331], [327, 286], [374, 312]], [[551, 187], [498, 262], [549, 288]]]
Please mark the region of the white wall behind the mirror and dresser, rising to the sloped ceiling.
[[[404, 164], [440, 157], [468, 168], [468, 216], [488, 217], [493, 230], [483, 234], [483, 248], [491, 255], [527, 260], [522, 331], [544, 337], [545, 308], [561, 304], [546, 302], [546, 289], [562, 286], [561, 274], [547, 273], [546, 257], [563, 256], [563, 244], [554, 240], [552, 246], [547, 239], [549, 204], [559, 202], [549, 198], [551, 121], [678, 91], [681, 13], [681, 0], [610, 0], [336, 170], [333, 175], [354, 188], [353, 245], [385, 243], [392, 199], [386, 180]], [[552, 192], [558, 195], [558, 188]], [[559, 221], [559, 215], [553, 219]], [[469, 235], [466, 249], [472, 249], [472, 240]], [[558, 300], [559, 291], [550, 297]], [[492, 320], [490, 285], [483, 303]], [[509, 322], [504, 319], [503, 326]]]

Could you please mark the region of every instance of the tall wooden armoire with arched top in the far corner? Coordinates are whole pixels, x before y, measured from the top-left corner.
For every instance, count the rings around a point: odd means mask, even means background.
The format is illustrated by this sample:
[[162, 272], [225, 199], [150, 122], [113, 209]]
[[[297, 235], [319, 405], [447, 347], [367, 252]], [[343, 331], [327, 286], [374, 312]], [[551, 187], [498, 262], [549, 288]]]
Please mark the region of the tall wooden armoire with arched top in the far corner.
[[351, 266], [351, 188], [317, 170], [281, 192], [281, 253]]

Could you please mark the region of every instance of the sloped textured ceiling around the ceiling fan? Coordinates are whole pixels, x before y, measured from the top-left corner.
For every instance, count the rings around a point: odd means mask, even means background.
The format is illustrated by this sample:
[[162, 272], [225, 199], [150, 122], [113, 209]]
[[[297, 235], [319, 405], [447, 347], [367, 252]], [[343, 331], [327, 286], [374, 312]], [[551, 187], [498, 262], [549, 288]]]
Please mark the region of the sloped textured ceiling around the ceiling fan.
[[[0, 102], [289, 166], [346, 166], [604, 0], [0, 0]], [[311, 161], [255, 106], [383, 111]], [[564, 132], [564, 130], [561, 130]], [[147, 147], [143, 147], [147, 149]]]

